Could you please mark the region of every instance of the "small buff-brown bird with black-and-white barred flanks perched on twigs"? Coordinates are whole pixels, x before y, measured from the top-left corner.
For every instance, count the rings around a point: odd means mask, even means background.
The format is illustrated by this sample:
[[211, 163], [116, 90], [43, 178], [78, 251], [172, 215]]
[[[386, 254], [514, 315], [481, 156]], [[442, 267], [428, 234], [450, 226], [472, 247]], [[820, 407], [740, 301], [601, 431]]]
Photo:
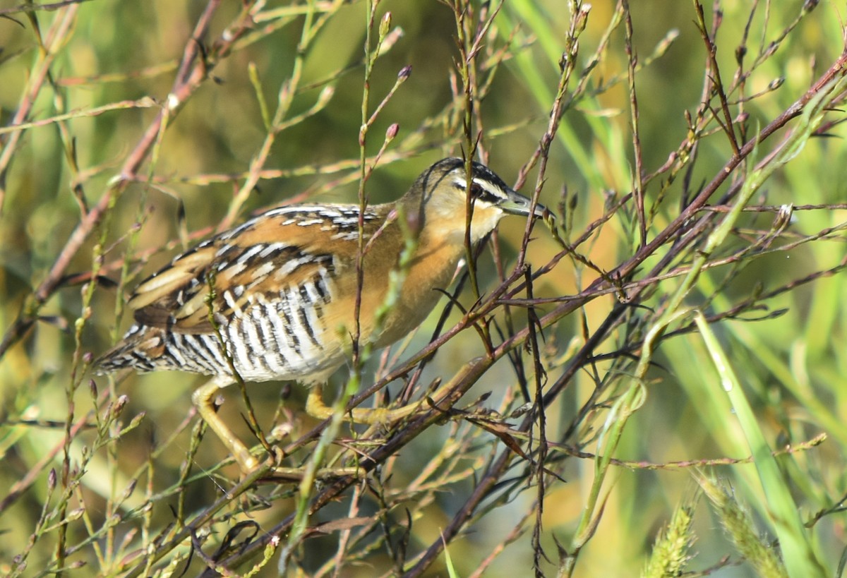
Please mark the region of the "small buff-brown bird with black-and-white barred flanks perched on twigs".
[[[546, 213], [484, 164], [469, 168], [462, 158], [443, 158], [394, 202], [272, 208], [191, 247], [136, 287], [128, 301], [134, 323], [94, 362], [96, 373], [210, 375], [193, 403], [241, 470], [254, 470], [257, 459], [215, 411], [221, 388], [239, 378], [299, 381], [312, 387], [307, 413], [328, 418], [322, 386], [348, 361], [354, 327], [360, 343], [396, 342], [450, 285], [466, 233], [475, 245], [507, 214]], [[355, 408], [347, 419], [381, 423], [416, 409]]]

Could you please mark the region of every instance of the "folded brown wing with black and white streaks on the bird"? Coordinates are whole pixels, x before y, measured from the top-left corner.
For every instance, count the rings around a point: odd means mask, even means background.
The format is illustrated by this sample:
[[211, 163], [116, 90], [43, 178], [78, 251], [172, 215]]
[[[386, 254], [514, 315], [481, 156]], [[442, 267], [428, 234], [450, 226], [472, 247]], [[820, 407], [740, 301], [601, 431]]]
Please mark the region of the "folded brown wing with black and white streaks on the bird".
[[[366, 236], [378, 220], [366, 213]], [[357, 231], [355, 206], [274, 209], [174, 258], [136, 287], [129, 306], [141, 325], [209, 333], [211, 319], [225, 324], [257, 299], [288, 298], [305, 281], [323, 279], [329, 291], [325, 280], [355, 263]]]

